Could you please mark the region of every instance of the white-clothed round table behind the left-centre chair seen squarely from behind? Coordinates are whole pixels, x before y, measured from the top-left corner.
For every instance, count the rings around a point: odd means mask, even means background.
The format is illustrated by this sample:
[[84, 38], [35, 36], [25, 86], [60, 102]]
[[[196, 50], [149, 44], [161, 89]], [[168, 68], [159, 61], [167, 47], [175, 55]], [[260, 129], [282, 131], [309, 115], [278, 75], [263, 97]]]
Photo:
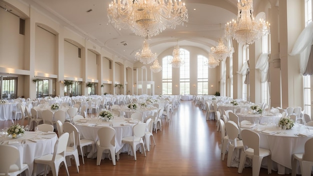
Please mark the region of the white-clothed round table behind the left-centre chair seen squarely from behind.
[[[132, 136], [132, 126], [138, 123], [124, 121], [124, 118], [115, 117], [112, 120], [112, 128], [115, 130], [115, 152], [127, 152], [127, 145], [123, 146], [121, 139], [123, 137]], [[98, 130], [101, 127], [108, 127], [110, 122], [99, 122], [97, 119], [81, 119], [75, 123], [80, 137], [82, 139], [92, 140], [96, 143], [98, 138]], [[87, 158], [96, 158], [96, 148], [91, 149]]]

